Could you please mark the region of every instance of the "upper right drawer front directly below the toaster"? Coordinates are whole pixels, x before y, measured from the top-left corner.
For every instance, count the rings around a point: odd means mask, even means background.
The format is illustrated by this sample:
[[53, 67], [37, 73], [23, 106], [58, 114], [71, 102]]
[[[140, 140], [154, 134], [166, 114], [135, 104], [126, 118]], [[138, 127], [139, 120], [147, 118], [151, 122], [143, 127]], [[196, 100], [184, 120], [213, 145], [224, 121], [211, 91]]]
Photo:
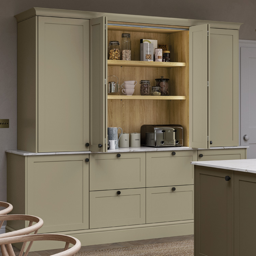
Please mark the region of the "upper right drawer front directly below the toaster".
[[146, 152], [146, 187], [194, 184], [194, 166], [197, 151]]

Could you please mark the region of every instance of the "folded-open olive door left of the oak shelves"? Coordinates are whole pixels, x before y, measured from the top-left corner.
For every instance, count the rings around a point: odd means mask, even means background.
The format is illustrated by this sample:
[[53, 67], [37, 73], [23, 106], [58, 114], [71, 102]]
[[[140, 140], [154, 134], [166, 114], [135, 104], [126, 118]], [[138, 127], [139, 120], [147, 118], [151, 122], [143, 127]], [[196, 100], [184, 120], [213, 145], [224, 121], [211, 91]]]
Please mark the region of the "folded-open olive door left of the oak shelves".
[[108, 63], [106, 59], [107, 19], [99, 17], [90, 19], [90, 56], [89, 56], [89, 150], [106, 152], [108, 124], [108, 93], [106, 76]]

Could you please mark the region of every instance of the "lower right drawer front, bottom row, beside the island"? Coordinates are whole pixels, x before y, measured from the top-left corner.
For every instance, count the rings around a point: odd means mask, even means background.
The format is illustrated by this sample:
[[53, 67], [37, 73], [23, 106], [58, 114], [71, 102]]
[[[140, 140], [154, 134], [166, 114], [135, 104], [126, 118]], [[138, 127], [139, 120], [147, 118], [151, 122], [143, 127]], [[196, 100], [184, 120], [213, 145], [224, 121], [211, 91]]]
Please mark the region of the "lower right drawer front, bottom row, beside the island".
[[146, 223], [194, 219], [194, 186], [146, 188]]

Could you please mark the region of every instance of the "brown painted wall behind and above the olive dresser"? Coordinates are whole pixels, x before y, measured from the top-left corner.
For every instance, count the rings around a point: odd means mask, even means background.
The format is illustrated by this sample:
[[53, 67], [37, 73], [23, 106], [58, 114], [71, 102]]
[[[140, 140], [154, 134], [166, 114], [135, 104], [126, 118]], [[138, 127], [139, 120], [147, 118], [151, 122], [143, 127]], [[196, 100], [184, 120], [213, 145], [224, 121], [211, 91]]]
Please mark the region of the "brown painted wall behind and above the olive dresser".
[[17, 148], [17, 29], [15, 14], [32, 7], [244, 23], [239, 39], [256, 40], [255, 0], [0, 0], [0, 201], [6, 200], [5, 149]]

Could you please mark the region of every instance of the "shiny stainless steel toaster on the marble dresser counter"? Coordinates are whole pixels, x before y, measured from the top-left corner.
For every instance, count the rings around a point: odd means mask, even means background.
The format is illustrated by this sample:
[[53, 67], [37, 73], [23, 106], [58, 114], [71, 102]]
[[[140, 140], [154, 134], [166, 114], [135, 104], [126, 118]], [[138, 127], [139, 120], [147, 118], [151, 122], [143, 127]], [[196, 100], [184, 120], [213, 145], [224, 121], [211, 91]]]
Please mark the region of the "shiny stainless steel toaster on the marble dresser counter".
[[142, 146], [183, 146], [183, 127], [181, 125], [142, 125], [140, 133]]

